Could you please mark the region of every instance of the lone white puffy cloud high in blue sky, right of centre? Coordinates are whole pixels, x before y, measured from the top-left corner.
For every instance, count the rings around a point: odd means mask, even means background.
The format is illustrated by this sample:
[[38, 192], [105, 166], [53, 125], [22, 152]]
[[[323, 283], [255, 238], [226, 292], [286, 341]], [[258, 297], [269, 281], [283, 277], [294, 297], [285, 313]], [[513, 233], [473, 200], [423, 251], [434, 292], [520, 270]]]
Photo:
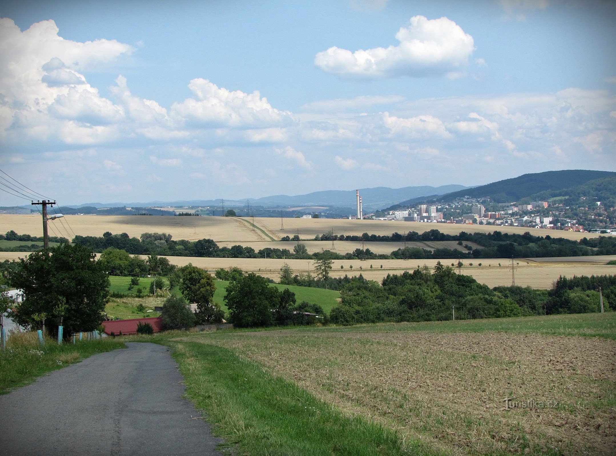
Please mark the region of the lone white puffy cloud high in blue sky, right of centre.
[[474, 51], [472, 36], [447, 17], [412, 17], [395, 38], [400, 44], [387, 48], [351, 52], [330, 47], [319, 52], [314, 63], [322, 70], [347, 78], [444, 76], [462, 70]]

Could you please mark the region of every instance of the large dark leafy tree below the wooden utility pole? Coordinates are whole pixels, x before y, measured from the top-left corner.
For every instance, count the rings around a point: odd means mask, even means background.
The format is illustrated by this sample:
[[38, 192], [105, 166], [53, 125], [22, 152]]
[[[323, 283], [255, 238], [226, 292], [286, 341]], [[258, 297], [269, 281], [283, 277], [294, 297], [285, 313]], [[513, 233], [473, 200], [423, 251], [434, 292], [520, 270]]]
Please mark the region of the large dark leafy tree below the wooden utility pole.
[[[109, 278], [86, 247], [62, 244], [49, 249], [49, 254], [34, 252], [20, 260], [10, 279], [24, 294], [23, 302], [11, 313], [20, 326], [36, 326], [41, 314], [58, 323], [63, 316], [68, 338], [73, 332], [95, 330], [103, 321]], [[49, 328], [54, 335], [57, 327], [51, 324]]]

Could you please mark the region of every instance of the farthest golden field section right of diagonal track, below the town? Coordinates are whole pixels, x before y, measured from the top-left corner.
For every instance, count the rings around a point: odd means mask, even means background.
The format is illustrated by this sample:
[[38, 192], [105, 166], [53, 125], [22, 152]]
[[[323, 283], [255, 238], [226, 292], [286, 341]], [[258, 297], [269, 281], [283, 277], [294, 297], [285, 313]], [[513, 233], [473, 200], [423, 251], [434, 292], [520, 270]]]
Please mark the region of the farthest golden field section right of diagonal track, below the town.
[[420, 223], [420, 222], [395, 222], [394, 220], [349, 220], [347, 218], [285, 218], [285, 229], [280, 230], [280, 218], [259, 217], [254, 223], [270, 234], [274, 239], [282, 236], [298, 234], [302, 239], [313, 239], [317, 234], [323, 234], [334, 230], [334, 234], [360, 236], [368, 234], [392, 234], [407, 233], [408, 231], [439, 230], [445, 234], [458, 234], [460, 231], [467, 233], [492, 233], [498, 230], [503, 233], [519, 233], [530, 231], [535, 236], [550, 236], [578, 241], [582, 238], [591, 238], [599, 234], [576, 233], [574, 231], [541, 230], [540, 228], [521, 228], [518, 226], [488, 226], [488, 225], [455, 225], [453, 223]]

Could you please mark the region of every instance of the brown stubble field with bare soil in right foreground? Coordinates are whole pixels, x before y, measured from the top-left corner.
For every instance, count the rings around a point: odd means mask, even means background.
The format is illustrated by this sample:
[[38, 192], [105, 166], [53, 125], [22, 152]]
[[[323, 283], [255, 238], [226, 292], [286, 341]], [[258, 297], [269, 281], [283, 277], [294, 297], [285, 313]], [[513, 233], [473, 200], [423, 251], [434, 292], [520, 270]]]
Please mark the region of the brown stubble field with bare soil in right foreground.
[[[611, 313], [588, 317], [614, 326]], [[190, 340], [229, 348], [447, 454], [614, 454], [616, 340], [490, 330], [551, 318], [566, 327], [577, 316], [492, 319], [483, 332], [426, 322]]]

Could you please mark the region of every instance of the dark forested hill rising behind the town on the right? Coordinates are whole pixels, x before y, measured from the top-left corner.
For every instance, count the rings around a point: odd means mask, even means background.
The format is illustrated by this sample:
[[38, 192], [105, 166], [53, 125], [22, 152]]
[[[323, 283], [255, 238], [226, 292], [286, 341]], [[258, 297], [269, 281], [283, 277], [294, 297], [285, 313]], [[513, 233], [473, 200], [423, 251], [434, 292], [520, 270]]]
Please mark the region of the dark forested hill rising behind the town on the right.
[[[464, 198], [490, 198], [494, 202], [517, 202], [546, 191], [559, 191], [584, 185], [591, 180], [616, 177], [616, 172], [569, 169], [524, 174], [511, 179], [499, 180], [477, 187], [466, 188], [439, 196], [412, 198], [397, 206], [410, 206], [423, 201], [448, 202]], [[388, 208], [392, 210], [392, 208]]]

